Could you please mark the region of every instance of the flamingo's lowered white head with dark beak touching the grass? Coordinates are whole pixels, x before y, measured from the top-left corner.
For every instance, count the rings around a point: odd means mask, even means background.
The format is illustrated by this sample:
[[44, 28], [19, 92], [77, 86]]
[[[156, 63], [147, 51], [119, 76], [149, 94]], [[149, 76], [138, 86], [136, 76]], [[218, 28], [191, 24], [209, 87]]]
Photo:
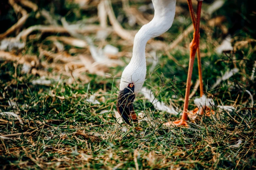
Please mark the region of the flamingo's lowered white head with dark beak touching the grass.
[[131, 60], [122, 74], [120, 91], [117, 97], [116, 108], [118, 113], [131, 125], [130, 120], [137, 122], [136, 114], [133, 109], [133, 100], [141, 90], [146, 77], [146, 64], [140, 64]]

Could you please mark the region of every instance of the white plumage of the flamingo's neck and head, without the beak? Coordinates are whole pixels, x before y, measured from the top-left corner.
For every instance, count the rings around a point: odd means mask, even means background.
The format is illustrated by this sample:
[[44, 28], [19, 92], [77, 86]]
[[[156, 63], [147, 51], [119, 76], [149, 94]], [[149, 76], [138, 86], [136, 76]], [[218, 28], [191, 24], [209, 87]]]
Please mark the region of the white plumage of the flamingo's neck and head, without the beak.
[[142, 26], [134, 38], [133, 52], [130, 63], [124, 69], [120, 90], [129, 83], [134, 83], [135, 95], [141, 90], [146, 77], [145, 47], [149, 39], [165, 33], [171, 26], [175, 16], [176, 0], [153, 0], [154, 18]]

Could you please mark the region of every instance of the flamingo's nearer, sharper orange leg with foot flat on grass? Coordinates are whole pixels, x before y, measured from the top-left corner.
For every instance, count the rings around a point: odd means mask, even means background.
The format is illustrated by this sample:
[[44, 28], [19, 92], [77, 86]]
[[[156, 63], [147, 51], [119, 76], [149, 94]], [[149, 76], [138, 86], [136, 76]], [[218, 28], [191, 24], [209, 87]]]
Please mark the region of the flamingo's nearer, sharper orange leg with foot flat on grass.
[[[191, 1], [191, 0], [188, 0]], [[193, 40], [191, 41], [189, 48], [190, 48], [190, 58], [189, 58], [189, 67], [188, 67], [188, 78], [187, 78], [187, 85], [186, 85], [186, 93], [185, 93], [185, 101], [184, 101], [184, 107], [183, 107], [183, 113], [181, 116], [180, 120], [176, 120], [173, 122], [167, 122], [164, 123], [164, 125], [169, 126], [169, 125], [178, 125], [178, 126], [185, 126], [188, 127], [187, 120], [187, 112], [188, 112], [188, 99], [189, 99], [189, 94], [190, 94], [190, 86], [191, 86], [191, 78], [192, 78], [192, 72], [193, 72], [193, 65], [195, 61], [195, 55], [196, 55], [196, 50], [198, 49], [199, 46], [199, 27], [200, 27], [200, 16], [201, 16], [201, 7], [202, 7], [202, 0], [198, 0], [197, 3], [197, 18], [196, 18], [196, 25], [195, 25], [195, 30], [193, 34]], [[192, 9], [193, 10], [193, 9]], [[192, 14], [191, 14], [192, 16]], [[193, 17], [192, 17], [193, 20]]]

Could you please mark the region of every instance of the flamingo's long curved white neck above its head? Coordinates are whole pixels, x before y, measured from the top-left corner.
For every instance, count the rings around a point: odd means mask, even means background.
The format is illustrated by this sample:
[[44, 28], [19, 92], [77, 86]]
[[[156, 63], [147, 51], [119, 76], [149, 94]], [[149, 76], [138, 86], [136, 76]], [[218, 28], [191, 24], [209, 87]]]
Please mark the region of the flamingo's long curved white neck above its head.
[[155, 14], [135, 35], [130, 63], [146, 65], [145, 47], [149, 39], [162, 35], [173, 23], [176, 0], [152, 0]]

